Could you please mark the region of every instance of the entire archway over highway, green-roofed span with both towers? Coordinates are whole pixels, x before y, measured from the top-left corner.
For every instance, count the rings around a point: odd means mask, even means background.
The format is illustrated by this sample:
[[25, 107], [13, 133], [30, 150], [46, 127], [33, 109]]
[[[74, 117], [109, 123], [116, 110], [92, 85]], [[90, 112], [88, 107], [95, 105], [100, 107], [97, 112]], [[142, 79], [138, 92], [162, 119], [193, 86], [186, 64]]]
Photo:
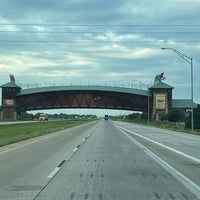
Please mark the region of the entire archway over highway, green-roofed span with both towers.
[[151, 119], [160, 120], [173, 108], [174, 102], [172, 102], [173, 87], [161, 80], [149, 90], [90, 85], [22, 89], [15, 83], [15, 79], [11, 79], [1, 88], [0, 119], [2, 120], [17, 119], [24, 111], [58, 108], [148, 111]]

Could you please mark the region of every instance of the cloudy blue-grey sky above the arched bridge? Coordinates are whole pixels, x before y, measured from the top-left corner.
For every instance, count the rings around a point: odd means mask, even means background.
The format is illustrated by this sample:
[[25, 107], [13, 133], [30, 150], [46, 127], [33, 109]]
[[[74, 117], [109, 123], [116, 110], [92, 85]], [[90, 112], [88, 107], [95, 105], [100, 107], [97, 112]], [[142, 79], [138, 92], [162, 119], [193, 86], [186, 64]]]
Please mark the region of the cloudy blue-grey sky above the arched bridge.
[[[146, 88], [200, 103], [200, 0], [0, 0], [0, 84]], [[189, 60], [190, 61], [190, 60]], [[85, 111], [84, 111], [85, 112]], [[119, 111], [122, 112], [122, 111]]]

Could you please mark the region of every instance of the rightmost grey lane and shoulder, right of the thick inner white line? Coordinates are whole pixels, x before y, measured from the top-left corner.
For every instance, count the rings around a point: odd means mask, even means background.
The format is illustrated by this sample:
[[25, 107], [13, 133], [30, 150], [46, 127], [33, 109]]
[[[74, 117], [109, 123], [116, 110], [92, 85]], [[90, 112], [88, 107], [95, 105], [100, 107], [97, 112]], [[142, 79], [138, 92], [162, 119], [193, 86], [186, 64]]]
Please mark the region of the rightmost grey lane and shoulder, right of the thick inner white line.
[[121, 122], [115, 125], [182, 173], [200, 193], [199, 136]]

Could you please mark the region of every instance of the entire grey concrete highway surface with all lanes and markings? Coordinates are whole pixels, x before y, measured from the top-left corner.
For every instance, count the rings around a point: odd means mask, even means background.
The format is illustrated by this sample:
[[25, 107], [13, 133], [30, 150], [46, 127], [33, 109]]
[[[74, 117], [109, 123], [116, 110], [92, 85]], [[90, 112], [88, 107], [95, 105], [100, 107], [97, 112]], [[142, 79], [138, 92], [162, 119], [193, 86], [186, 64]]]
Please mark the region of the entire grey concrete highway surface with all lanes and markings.
[[197, 200], [200, 137], [94, 121], [0, 148], [0, 200]]

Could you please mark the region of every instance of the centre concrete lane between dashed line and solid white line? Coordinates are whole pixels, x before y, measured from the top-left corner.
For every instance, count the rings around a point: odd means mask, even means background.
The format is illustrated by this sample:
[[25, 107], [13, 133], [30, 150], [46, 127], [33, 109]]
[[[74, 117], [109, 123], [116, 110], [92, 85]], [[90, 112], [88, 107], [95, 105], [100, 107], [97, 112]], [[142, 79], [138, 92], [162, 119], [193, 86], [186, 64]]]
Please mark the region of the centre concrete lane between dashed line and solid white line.
[[126, 137], [114, 122], [100, 121], [98, 129], [34, 199], [198, 198], [155, 162], [145, 148]]

